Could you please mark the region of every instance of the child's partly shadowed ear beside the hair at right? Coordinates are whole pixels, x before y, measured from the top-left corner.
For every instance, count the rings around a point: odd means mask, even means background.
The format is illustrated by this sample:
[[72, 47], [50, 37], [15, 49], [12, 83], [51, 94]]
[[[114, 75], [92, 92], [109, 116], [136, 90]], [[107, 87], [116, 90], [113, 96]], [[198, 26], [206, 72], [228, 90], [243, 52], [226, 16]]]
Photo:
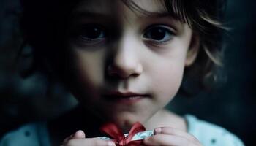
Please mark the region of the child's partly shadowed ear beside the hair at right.
[[200, 47], [200, 38], [197, 34], [192, 34], [192, 39], [189, 45], [189, 50], [187, 51], [187, 58], [185, 61], [185, 66], [191, 66], [195, 59], [197, 58], [197, 54], [199, 52]]

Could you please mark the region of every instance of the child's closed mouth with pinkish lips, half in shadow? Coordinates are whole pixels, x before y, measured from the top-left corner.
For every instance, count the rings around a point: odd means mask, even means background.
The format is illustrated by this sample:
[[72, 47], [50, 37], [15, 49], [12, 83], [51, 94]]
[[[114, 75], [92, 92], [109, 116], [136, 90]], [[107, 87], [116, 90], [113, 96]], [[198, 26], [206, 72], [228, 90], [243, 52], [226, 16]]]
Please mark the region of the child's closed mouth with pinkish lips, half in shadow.
[[109, 92], [103, 95], [103, 98], [110, 102], [117, 102], [121, 104], [135, 104], [142, 99], [148, 98], [148, 94], [140, 93], [121, 93], [119, 91]]

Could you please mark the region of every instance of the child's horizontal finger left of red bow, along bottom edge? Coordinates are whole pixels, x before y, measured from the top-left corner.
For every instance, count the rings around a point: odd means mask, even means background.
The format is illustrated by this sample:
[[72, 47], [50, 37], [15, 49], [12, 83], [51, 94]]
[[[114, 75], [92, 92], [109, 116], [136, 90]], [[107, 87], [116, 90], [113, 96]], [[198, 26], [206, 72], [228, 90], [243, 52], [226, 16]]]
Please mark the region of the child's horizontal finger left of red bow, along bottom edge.
[[102, 139], [71, 139], [67, 142], [66, 145], [99, 145], [99, 146], [116, 146], [115, 142], [111, 140], [102, 140]]

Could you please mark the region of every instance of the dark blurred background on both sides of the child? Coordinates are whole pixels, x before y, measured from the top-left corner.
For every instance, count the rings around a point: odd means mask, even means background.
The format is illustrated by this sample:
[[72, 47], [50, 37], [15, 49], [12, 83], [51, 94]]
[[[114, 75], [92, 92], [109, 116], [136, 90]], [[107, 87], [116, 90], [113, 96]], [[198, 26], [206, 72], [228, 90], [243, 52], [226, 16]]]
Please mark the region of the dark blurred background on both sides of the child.
[[[246, 145], [256, 145], [256, 2], [229, 0], [225, 43], [227, 82], [193, 98], [178, 95], [167, 107], [197, 115], [227, 128]], [[41, 72], [21, 77], [33, 64], [31, 47], [21, 52], [18, 0], [0, 0], [0, 137], [23, 123], [48, 120], [75, 107], [77, 101], [58, 82]], [[20, 55], [18, 55], [20, 53]]]

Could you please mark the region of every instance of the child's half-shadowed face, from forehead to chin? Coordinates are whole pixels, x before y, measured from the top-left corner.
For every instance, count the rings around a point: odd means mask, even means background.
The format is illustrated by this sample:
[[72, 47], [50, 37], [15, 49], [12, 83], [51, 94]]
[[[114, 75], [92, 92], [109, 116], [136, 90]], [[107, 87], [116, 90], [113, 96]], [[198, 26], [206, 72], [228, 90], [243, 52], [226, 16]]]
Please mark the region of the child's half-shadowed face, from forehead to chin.
[[[135, 1], [162, 15], [134, 12], [120, 0], [85, 0], [73, 12], [67, 41], [72, 92], [119, 126], [146, 123], [165, 107], [195, 58], [188, 55], [196, 44], [192, 30], [166, 15], [161, 2]], [[124, 97], [130, 92], [140, 96]]]

